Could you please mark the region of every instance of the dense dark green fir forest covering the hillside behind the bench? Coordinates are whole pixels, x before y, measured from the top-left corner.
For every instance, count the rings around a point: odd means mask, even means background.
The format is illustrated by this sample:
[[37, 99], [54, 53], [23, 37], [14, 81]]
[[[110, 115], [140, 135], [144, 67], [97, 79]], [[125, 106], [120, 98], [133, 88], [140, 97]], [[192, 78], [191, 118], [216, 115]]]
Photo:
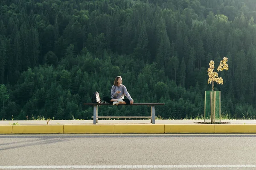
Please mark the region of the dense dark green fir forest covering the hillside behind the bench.
[[[209, 61], [223, 57], [221, 111], [256, 115], [255, 0], [1, 0], [0, 118], [90, 119], [114, 78], [161, 118], [204, 114]], [[215, 70], [216, 71], [216, 70]], [[99, 115], [148, 115], [100, 107]]]

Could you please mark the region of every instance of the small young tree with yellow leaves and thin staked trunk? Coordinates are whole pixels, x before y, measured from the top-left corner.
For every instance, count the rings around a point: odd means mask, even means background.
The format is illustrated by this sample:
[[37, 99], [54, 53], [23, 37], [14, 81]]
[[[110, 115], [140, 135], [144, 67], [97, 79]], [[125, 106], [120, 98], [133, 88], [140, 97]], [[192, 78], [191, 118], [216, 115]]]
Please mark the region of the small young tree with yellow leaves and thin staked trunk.
[[[214, 91], [214, 82], [218, 84], [223, 84], [223, 78], [218, 77], [218, 73], [214, 72], [214, 61], [210, 61], [209, 63], [209, 69], [208, 69], [208, 84], [212, 83], [212, 95], [211, 95], [211, 123], [215, 123], [215, 98], [213, 96]], [[218, 72], [221, 72], [223, 70], [228, 70], [227, 65], [227, 58], [224, 57], [223, 60], [220, 62], [220, 65], [218, 66]]]

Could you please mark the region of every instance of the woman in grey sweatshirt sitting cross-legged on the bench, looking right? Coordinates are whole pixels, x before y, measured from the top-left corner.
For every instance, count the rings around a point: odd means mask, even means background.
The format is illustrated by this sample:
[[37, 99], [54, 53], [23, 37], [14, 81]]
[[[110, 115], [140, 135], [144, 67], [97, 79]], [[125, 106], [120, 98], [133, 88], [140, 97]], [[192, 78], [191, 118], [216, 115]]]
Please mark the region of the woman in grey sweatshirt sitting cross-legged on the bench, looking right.
[[[128, 99], [124, 99], [124, 95]], [[113, 103], [113, 105], [118, 105], [118, 104], [133, 104], [134, 101], [131, 98], [131, 95], [128, 93], [126, 87], [122, 84], [122, 77], [117, 76], [114, 81], [114, 85], [111, 88], [111, 98], [109, 97], [104, 97], [104, 101], [108, 103]]]

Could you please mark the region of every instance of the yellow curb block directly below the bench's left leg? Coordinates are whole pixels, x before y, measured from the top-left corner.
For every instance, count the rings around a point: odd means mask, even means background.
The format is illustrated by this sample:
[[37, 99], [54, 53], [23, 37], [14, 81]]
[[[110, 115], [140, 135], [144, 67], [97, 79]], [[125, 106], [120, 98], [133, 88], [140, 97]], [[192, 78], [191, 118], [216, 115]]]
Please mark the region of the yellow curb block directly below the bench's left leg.
[[114, 133], [113, 124], [69, 124], [64, 125], [63, 133]]

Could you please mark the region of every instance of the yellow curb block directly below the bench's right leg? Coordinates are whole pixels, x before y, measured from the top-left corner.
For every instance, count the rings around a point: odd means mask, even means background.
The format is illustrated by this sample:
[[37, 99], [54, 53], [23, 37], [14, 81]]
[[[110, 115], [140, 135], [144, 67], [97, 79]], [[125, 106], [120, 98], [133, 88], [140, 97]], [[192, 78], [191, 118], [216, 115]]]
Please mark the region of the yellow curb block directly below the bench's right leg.
[[164, 124], [115, 124], [114, 133], [164, 133]]

